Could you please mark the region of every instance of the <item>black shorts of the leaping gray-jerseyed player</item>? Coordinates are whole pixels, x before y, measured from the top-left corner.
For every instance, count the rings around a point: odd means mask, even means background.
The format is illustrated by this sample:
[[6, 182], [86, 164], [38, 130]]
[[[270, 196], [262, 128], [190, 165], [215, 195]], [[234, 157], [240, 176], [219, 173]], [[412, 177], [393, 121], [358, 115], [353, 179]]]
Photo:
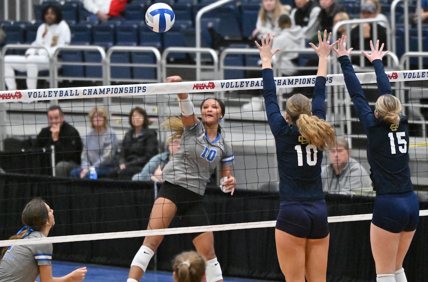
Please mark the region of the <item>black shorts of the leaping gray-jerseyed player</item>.
[[[165, 181], [158, 192], [158, 198], [166, 198], [177, 206], [177, 216], [180, 217], [182, 227], [210, 225], [208, 216], [202, 205], [203, 196], [179, 185]], [[192, 233], [196, 238], [201, 233]]]

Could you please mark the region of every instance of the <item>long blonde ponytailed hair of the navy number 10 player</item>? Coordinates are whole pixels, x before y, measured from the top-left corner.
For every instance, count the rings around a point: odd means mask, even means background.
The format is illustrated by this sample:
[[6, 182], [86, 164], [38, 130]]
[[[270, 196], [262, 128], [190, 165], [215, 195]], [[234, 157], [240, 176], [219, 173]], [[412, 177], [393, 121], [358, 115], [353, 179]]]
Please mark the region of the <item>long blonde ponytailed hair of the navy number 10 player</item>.
[[311, 102], [302, 94], [293, 95], [287, 101], [287, 114], [309, 144], [321, 150], [336, 147], [336, 132], [332, 126], [317, 116], [311, 116], [311, 110]]

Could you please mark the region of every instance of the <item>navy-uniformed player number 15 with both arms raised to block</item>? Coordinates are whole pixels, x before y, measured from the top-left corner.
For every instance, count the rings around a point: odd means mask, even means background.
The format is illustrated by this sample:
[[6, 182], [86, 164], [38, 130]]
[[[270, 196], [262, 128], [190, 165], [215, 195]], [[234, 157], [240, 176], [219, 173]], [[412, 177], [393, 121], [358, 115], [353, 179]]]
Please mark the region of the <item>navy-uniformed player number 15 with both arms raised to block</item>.
[[346, 87], [367, 134], [367, 159], [376, 190], [370, 243], [376, 264], [376, 281], [406, 282], [403, 260], [419, 222], [419, 202], [413, 192], [409, 168], [409, 124], [401, 114], [401, 103], [392, 95], [382, 58], [384, 44], [376, 47], [370, 41], [372, 53], [362, 53], [373, 63], [379, 98], [372, 112], [355, 76], [346, 50], [346, 36], [339, 39], [336, 52], [343, 70]]

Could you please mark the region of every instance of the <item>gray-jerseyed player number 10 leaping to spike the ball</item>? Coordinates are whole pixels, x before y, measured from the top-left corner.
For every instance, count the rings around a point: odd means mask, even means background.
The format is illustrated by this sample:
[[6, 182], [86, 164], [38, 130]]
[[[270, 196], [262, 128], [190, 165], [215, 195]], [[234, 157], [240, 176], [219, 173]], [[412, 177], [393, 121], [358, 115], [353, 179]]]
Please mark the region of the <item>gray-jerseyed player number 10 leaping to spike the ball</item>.
[[[166, 82], [181, 82], [178, 76]], [[234, 160], [232, 147], [221, 135], [220, 120], [225, 114], [224, 103], [215, 98], [202, 102], [199, 120], [193, 111], [193, 103], [187, 93], [178, 94], [183, 125], [180, 150], [174, 154], [163, 169], [163, 179], [158, 197], [152, 208], [148, 230], [168, 228], [174, 216], [181, 217], [184, 226], [209, 225], [202, 206], [206, 184], [216, 167], [221, 164], [223, 192], [235, 190], [235, 177], [230, 173]], [[177, 126], [170, 126], [172, 129]], [[220, 264], [214, 251], [212, 232], [193, 235], [196, 251], [206, 259], [206, 281], [223, 281]], [[147, 266], [163, 235], [149, 236], [131, 263], [127, 282], [137, 282], [146, 272]]]

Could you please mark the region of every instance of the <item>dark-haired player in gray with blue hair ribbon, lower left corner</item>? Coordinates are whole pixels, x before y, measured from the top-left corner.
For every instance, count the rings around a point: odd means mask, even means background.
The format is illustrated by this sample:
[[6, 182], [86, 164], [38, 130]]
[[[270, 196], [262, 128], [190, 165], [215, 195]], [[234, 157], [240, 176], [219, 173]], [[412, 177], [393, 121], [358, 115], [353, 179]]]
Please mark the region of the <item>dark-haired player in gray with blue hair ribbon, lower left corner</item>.
[[[53, 209], [42, 199], [32, 199], [22, 212], [25, 225], [9, 239], [44, 238], [55, 224]], [[52, 244], [19, 245], [4, 247], [0, 261], [0, 282], [34, 282], [40, 274], [40, 282], [53, 281]], [[86, 267], [56, 277], [57, 282], [82, 281]]]

